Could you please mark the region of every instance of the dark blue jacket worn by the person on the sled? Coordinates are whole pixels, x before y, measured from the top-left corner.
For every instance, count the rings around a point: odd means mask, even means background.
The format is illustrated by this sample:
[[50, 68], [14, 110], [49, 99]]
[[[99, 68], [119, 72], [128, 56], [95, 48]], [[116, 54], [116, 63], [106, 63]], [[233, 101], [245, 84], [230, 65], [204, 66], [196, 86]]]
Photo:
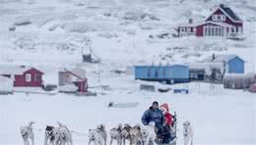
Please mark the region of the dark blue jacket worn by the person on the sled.
[[148, 109], [142, 116], [142, 123], [148, 125], [151, 121], [155, 121], [156, 125], [162, 125], [164, 117], [160, 109], [154, 110], [152, 107]]

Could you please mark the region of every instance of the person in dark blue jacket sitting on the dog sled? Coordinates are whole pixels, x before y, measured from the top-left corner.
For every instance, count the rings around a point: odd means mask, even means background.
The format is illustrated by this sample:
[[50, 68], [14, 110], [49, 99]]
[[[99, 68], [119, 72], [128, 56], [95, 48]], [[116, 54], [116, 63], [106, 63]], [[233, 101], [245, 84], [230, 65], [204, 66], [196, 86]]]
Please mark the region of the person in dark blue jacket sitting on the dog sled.
[[159, 130], [157, 134], [164, 134], [164, 116], [159, 108], [159, 102], [157, 101], [153, 102], [153, 105], [150, 107], [150, 109], [148, 109], [142, 116], [142, 123], [144, 125], [149, 125], [151, 121], [156, 123], [156, 127]]

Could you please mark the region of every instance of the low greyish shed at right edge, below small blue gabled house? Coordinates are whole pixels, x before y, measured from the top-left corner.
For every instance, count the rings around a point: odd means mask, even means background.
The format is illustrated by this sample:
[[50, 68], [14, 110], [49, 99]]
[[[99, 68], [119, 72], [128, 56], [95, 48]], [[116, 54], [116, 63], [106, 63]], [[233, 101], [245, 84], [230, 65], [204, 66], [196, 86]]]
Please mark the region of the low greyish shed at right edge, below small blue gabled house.
[[224, 88], [246, 89], [255, 82], [253, 73], [227, 73], [224, 74]]

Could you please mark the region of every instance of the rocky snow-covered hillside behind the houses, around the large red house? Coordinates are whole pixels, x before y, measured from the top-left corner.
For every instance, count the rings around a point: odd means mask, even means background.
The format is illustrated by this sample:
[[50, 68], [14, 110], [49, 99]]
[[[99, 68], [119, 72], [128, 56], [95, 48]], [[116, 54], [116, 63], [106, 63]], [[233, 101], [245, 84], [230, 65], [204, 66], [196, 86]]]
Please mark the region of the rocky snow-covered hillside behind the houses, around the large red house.
[[[244, 21], [244, 41], [177, 39], [171, 35], [158, 38], [162, 33], [175, 33], [176, 26], [186, 24], [189, 18], [195, 23], [204, 21], [221, 2]], [[54, 63], [78, 64], [84, 39], [88, 38], [92, 40], [96, 55], [107, 63], [118, 60], [123, 65], [158, 64], [162, 59], [170, 63], [191, 62], [215, 52], [236, 53], [251, 69], [255, 62], [254, 6], [254, 0], [1, 1], [0, 49], [5, 50], [1, 61], [45, 63], [43, 59], [47, 57]], [[16, 30], [9, 31], [14, 24]], [[150, 38], [150, 35], [154, 37]], [[175, 50], [176, 47], [182, 49]], [[114, 58], [111, 57], [113, 52]], [[164, 58], [167, 54], [171, 57]], [[56, 59], [56, 56], [61, 57]]]

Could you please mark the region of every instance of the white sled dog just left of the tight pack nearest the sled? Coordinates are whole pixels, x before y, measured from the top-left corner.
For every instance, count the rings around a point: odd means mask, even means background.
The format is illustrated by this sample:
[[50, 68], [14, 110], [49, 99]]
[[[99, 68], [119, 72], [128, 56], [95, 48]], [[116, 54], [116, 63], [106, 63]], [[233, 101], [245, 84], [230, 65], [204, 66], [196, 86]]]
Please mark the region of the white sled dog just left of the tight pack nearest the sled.
[[89, 129], [89, 145], [94, 142], [95, 145], [106, 145], [107, 134], [105, 126], [99, 124], [96, 129]]

